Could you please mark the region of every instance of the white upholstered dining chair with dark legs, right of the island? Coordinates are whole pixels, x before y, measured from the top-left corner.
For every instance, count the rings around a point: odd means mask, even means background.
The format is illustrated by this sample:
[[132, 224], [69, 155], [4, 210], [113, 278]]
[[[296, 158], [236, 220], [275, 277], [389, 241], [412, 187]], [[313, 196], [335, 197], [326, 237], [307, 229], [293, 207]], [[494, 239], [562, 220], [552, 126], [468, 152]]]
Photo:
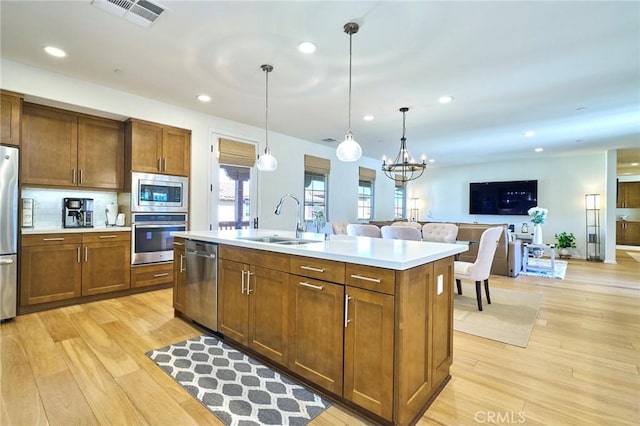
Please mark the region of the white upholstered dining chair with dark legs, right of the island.
[[453, 273], [458, 287], [458, 294], [462, 294], [462, 280], [475, 281], [476, 298], [478, 299], [478, 310], [482, 311], [482, 286], [484, 281], [484, 291], [487, 295], [487, 304], [491, 304], [491, 296], [489, 295], [489, 275], [491, 274], [491, 264], [493, 256], [498, 247], [498, 240], [502, 235], [503, 228], [495, 226], [487, 228], [480, 236], [480, 244], [478, 246], [478, 256], [475, 262], [454, 261]]

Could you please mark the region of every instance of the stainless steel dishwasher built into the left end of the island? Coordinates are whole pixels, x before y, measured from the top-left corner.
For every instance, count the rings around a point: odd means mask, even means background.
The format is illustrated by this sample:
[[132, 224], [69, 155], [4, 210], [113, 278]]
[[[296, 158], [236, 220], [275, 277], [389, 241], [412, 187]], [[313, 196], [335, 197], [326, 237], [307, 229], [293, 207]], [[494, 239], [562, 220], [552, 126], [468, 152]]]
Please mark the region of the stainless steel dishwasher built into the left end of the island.
[[185, 315], [218, 331], [218, 245], [187, 240]]

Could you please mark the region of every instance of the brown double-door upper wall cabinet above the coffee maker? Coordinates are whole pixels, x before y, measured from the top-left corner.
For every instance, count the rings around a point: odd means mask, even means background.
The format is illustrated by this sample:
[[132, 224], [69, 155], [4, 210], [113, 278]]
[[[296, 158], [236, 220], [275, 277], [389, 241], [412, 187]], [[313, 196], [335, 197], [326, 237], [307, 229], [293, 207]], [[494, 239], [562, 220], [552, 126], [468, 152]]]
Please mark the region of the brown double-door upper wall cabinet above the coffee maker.
[[25, 103], [22, 183], [119, 190], [124, 124]]

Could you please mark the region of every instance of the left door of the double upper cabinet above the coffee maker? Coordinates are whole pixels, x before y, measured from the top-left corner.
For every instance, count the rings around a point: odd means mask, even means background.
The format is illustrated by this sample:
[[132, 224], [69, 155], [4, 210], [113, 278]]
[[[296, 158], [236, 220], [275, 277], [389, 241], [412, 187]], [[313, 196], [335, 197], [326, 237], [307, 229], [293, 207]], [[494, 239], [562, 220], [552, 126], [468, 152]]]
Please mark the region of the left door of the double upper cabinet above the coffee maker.
[[75, 186], [78, 118], [74, 114], [24, 104], [22, 183]]

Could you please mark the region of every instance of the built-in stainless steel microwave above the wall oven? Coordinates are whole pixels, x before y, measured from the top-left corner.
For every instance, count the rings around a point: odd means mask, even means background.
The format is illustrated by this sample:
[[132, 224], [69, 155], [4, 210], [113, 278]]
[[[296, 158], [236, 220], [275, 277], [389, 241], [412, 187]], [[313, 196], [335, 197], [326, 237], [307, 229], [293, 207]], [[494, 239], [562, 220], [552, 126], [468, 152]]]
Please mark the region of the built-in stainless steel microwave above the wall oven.
[[182, 176], [131, 173], [132, 212], [187, 212], [189, 179]]

